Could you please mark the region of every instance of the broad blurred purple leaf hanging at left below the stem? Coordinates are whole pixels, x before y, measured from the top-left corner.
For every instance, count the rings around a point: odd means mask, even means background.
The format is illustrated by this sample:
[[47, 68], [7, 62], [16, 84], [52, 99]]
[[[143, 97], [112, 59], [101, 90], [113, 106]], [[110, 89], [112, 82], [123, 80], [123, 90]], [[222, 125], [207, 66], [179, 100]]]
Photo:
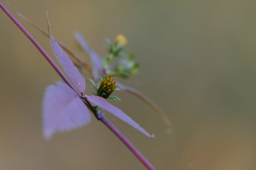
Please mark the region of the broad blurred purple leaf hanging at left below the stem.
[[47, 87], [42, 116], [43, 135], [46, 140], [56, 132], [70, 131], [90, 121], [89, 111], [83, 101], [62, 81]]

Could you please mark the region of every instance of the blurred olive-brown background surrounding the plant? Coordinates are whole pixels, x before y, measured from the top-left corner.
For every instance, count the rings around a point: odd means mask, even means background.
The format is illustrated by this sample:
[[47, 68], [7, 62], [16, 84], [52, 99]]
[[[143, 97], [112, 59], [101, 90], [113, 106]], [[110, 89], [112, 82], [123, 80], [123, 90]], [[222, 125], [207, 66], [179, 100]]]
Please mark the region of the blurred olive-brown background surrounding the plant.
[[[127, 37], [140, 69], [126, 83], [165, 110], [172, 130], [125, 91], [116, 92], [122, 102], [114, 104], [155, 138], [106, 117], [156, 169], [256, 169], [255, 0], [1, 2], [52, 57], [48, 38], [17, 12], [46, 30], [48, 11], [53, 36], [84, 61], [74, 31], [101, 56], [106, 37]], [[60, 77], [2, 11], [0, 37], [1, 170], [145, 169], [94, 117], [86, 127], [45, 141], [42, 97]], [[92, 89], [87, 81], [86, 91]]]

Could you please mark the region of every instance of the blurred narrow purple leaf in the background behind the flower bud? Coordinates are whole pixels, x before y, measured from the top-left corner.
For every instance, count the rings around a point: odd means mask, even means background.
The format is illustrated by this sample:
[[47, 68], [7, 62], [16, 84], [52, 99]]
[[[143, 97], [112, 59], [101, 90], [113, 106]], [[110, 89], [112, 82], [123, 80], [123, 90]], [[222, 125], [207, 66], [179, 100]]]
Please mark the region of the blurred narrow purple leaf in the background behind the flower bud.
[[102, 64], [99, 55], [92, 49], [90, 49], [88, 42], [85, 40], [80, 32], [75, 32], [75, 38], [83, 50], [90, 56], [91, 65], [93, 68], [93, 77], [95, 80], [99, 79], [99, 72], [102, 69]]

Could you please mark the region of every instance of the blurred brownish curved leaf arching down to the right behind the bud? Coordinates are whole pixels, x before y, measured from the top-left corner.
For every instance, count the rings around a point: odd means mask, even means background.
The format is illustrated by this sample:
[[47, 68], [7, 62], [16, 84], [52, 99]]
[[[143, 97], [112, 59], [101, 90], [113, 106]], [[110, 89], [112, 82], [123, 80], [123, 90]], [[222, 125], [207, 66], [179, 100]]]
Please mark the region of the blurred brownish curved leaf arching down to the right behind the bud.
[[132, 93], [133, 95], [141, 98], [145, 103], [147, 103], [150, 107], [152, 107], [162, 117], [163, 121], [165, 122], [165, 124], [168, 127], [171, 127], [171, 122], [169, 121], [169, 119], [165, 115], [165, 113], [159, 108], [158, 105], [156, 105], [153, 101], [151, 101], [147, 96], [145, 96], [138, 90], [133, 89], [132, 87], [128, 87], [128, 86], [125, 86], [125, 85], [119, 83], [118, 81], [115, 81], [115, 83], [121, 90], [128, 91], [128, 92]]

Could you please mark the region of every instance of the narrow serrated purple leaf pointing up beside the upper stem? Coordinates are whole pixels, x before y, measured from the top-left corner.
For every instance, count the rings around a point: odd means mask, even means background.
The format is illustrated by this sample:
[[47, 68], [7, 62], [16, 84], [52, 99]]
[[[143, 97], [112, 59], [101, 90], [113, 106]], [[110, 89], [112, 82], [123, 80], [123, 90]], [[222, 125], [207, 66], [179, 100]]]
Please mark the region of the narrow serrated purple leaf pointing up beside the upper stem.
[[74, 66], [73, 62], [67, 56], [67, 54], [61, 49], [58, 42], [56, 42], [53, 36], [50, 36], [53, 52], [60, 62], [60, 65], [64, 68], [67, 75], [73, 81], [77, 89], [84, 93], [85, 90], [85, 80], [84, 77], [79, 73], [78, 69]]

